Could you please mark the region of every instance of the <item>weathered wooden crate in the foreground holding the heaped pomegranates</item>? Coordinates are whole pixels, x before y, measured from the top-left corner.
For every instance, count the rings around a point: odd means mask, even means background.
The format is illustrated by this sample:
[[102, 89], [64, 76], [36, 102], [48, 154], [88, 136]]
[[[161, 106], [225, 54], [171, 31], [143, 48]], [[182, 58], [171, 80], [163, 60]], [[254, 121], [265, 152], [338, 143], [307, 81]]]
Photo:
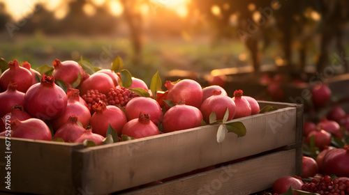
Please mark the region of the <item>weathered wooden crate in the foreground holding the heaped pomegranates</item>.
[[[246, 136], [237, 137], [236, 134], [230, 133], [222, 143], [216, 141], [218, 125], [205, 125], [92, 148], [82, 148], [82, 145], [73, 143], [11, 139], [11, 190], [5, 189], [4, 182], [1, 182], [0, 187], [5, 192], [33, 194], [109, 194], [195, 169], [302, 143], [302, 105], [259, 103], [261, 107], [270, 104], [279, 109], [231, 120], [244, 123], [247, 129]], [[0, 146], [4, 146], [4, 142], [5, 140], [0, 138]], [[291, 158], [290, 162], [284, 162], [285, 172], [281, 171], [281, 175], [299, 175], [302, 171], [302, 148], [292, 148], [292, 151], [292, 155], [289, 154], [291, 150], [280, 152]], [[0, 147], [0, 153], [5, 153], [5, 147]], [[250, 169], [255, 169], [253, 163], [260, 163], [258, 159], [260, 157], [248, 159], [248, 162], [251, 161]], [[288, 166], [288, 163], [292, 166]], [[241, 169], [239, 174], [242, 175], [243, 170], [248, 169], [239, 168], [238, 164], [231, 166], [238, 166], [234, 169]], [[219, 175], [220, 169], [205, 173], [205, 180]], [[253, 175], [254, 171], [251, 174]], [[272, 178], [268, 182], [260, 181], [266, 182], [260, 185], [261, 188], [255, 187], [251, 190], [265, 189], [278, 176], [280, 175], [268, 176]], [[248, 174], [246, 177], [249, 177]], [[194, 181], [188, 180], [188, 185]], [[165, 186], [171, 185], [161, 185], [162, 188]], [[185, 191], [186, 187], [184, 185], [182, 190]], [[198, 190], [197, 187], [188, 186], [191, 189], [188, 194]], [[165, 189], [168, 188], [163, 190]], [[152, 189], [147, 190], [150, 190], [149, 194], [152, 193]]]

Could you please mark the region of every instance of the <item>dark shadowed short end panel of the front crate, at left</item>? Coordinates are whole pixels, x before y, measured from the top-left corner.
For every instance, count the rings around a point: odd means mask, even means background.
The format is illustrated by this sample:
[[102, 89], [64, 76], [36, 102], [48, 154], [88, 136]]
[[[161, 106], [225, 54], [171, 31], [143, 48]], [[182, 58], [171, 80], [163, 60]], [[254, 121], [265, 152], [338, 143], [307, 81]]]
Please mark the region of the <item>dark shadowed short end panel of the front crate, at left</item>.
[[7, 192], [32, 194], [75, 194], [73, 187], [73, 150], [83, 148], [79, 143], [10, 139], [10, 161], [4, 158], [5, 138], [0, 137], [0, 164], [10, 164], [10, 190], [3, 182], [1, 167], [0, 189]]

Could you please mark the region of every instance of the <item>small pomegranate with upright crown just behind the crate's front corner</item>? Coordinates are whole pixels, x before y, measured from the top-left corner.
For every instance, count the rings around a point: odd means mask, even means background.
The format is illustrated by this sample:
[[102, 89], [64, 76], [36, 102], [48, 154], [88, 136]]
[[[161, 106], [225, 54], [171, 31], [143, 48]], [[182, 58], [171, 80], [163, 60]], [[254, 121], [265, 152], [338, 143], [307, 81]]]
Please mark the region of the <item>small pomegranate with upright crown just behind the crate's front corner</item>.
[[69, 116], [68, 120], [64, 125], [59, 127], [57, 132], [54, 134], [54, 139], [61, 138], [65, 142], [74, 142], [76, 139], [84, 134], [85, 129], [77, 124], [77, 116]]

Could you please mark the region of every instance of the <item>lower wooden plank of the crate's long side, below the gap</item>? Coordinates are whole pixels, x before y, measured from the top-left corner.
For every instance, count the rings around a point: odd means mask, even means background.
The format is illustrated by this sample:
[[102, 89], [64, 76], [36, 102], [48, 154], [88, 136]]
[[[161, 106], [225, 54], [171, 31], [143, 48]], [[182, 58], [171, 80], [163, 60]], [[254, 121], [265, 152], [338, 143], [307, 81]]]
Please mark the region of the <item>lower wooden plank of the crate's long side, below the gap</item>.
[[296, 161], [296, 149], [286, 150], [122, 195], [253, 194], [269, 189], [278, 178], [295, 176]]

